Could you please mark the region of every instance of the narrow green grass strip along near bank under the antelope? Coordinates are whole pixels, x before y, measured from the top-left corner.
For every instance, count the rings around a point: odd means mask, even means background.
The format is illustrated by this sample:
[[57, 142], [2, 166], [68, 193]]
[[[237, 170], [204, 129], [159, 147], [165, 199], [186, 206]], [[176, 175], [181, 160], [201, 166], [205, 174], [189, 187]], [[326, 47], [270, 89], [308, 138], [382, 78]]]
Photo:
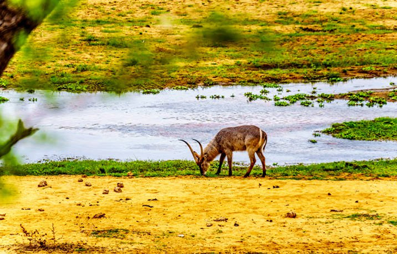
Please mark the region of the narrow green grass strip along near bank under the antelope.
[[[218, 161], [211, 164], [207, 177], [216, 177]], [[243, 176], [247, 165], [236, 163], [233, 166], [234, 176]], [[1, 174], [13, 175], [98, 175], [98, 176], [126, 176], [131, 172], [134, 177], [168, 177], [193, 176], [200, 177], [200, 171], [193, 161], [129, 161], [113, 160], [65, 160], [48, 161], [44, 163], [24, 164], [12, 167], [0, 167]], [[223, 164], [219, 177], [228, 175], [228, 168]], [[392, 177], [397, 175], [397, 159], [359, 162], [333, 162], [311, 165], [292, 165], [269, 167], [268, 177], [277, 179], [330, 179], [345, 180], [362, 177]], [[251, 172], [252, 177], [260, 177], [262, 169], [257, 165]]]

